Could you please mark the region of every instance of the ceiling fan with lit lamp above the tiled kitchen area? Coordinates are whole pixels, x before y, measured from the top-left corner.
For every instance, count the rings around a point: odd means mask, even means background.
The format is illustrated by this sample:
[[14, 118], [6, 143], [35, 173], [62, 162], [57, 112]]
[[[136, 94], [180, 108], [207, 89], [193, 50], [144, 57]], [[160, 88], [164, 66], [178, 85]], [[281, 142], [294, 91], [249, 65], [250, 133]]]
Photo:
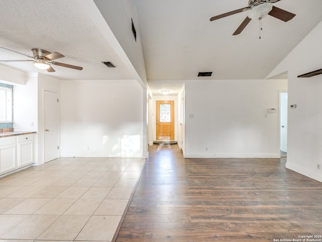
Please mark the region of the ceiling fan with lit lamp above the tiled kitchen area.
[[64, 63], [60, 63], [60, 62], [53, 62], [54, 59], [64, 57], [64, 55], [62, 55], [61, 53], [58, 53], [58, 52], [50, 53], [49, 51], [44, 50], [44, 49], [34, 48], [34, 49], [31, 49], [31, 51], [33, 53], [33, 56], [31, 56], [28, 54], [20, 53], [15, 50], [7, 49], [5, 47], [0, 46], [0, 48], [10, 50], [12, 52], [22, 54], [22, 55], [25, 55], [29, 58], [32, 58], [32, 59], [13, 59], [13, 60], [5, 60], [5, 61], [0, 60], [0, 62], [33, 62], [35, 67], [37, 67], [41, 70], [46, 70], [47, 72], [55, 72], [55, 70], [51, 67], [51, 65], [71, 68], [71, 69], [75, 69], [75, 70], [79, 70], [79, 71], [83, 70], [83, 67], [72, 66], [72, 65], [68, 65], [68, 64], [64, 64]]

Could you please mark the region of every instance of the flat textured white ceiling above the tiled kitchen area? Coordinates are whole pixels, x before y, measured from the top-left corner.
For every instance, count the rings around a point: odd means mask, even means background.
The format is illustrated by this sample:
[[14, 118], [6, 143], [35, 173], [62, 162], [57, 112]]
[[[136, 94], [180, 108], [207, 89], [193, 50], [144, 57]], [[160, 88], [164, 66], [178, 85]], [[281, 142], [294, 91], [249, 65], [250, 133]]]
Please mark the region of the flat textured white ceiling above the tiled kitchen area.
[[[40, 71], [32, 62], [1, 63], [25, 72], [41, 72], [66, 80], [133, 79], [127, 67], [76, 0], [1, 0], [0, 46], [32, 56], [32, 48], [59, 52], [57, 62], [83, 67], [83, 71], [53, 66]], [[0, 59], [28, 59], [0, 49]], [[117, 68], [107, 68], [111, 61]]]

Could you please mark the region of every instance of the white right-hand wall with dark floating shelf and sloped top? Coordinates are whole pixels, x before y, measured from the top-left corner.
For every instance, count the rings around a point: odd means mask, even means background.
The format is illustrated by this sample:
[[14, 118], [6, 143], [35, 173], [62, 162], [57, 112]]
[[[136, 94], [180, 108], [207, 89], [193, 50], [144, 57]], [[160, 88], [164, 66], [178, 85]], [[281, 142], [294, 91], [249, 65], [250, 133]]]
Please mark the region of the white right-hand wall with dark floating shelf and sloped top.
[[322, 75], [297, 78], [322, 68], [322, 22], [272, 71], [288, 72], [288, 140], [286, 167], [322, 181]]

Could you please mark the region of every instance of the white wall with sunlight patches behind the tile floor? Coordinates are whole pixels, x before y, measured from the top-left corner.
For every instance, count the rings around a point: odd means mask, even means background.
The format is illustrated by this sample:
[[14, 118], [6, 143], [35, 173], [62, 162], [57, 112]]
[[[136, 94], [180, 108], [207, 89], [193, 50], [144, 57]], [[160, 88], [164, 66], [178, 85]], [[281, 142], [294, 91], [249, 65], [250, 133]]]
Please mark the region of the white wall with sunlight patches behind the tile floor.
[[135, 80], [63, 81], [61, 156], [142, 157], [142, 99]]

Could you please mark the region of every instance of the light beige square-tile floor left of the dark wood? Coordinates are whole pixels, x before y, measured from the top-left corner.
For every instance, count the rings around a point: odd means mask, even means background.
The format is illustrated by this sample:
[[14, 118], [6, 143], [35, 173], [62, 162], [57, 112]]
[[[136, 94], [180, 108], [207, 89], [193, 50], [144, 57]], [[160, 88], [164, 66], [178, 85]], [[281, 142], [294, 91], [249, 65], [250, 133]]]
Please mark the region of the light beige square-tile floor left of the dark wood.
[[0, 178], [0, 241], [111, 241], [144, 162], [59, 158]]

